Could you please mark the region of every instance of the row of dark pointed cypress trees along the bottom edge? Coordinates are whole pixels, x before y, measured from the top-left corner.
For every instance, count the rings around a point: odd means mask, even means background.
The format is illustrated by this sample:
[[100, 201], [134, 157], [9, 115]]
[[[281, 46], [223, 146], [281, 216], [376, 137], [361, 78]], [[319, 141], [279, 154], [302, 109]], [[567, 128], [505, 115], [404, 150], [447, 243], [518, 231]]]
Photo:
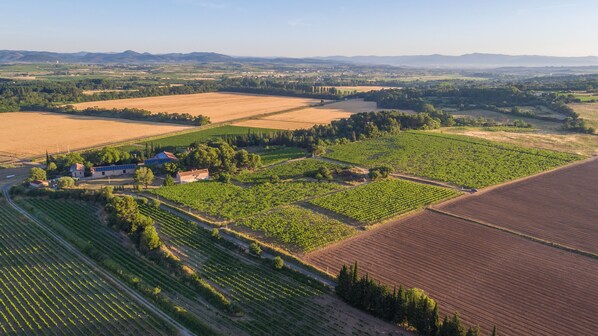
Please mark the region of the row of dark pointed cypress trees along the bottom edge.
[[[371, 279], [359, 276], [357, 262], [343, 265], [337, 278], [337, 295], [353, 307], [364, 310], [394, 324], [407, 324], [422, 336], [479, 336], [478, 326], [465, 328], [459, 314], [440, 321], [438, 304], [421, 289], [390, 289]], [[492, 331], [496, 336], [496, 328]]]

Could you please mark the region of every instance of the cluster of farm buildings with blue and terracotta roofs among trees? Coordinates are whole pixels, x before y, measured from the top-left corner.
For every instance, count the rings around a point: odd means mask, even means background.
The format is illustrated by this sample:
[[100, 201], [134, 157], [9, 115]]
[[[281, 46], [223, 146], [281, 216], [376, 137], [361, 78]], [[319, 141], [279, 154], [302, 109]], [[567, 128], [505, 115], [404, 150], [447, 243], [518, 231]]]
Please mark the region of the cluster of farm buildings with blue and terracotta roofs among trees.
[[[91, 167], [91, 177], [89, 178], [97, 179], [109, 176], [133, 174], [137, 168], [142, 166], [160, 166], [165, 163], [177, 162], [178, 160], [179, 159], [170, 152], [161, 152], [139, 164], [129, 163], [122, 165]], [[69, 171], [72, 177], [85, 177], [85, 166], [80, 163], [73, 164]], [[191, 183], [207, 180], [209, 177], [210, 173], [207, 169], [194, 169], [185, 172], [178, 172], [175, 177], [175, 183]]]

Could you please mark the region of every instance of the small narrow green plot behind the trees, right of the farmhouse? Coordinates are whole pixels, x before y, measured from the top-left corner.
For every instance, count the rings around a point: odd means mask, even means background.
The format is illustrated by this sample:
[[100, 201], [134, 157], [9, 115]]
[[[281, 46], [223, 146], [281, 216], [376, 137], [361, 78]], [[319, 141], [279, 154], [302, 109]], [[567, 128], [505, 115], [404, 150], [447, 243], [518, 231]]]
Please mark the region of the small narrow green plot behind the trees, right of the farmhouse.
[[304, 177], [305, 173], [317, 171], [320, 167], [328, 169], [342, 168], [343, 166], [324, 162], [316, 159], [305, 159], [292, 162], [286, 162], [276, 166], [261, 169], [255, 172], [244, 171], [235, 177], [241, 182], [266, 182], [274, 175], [281, 180]]

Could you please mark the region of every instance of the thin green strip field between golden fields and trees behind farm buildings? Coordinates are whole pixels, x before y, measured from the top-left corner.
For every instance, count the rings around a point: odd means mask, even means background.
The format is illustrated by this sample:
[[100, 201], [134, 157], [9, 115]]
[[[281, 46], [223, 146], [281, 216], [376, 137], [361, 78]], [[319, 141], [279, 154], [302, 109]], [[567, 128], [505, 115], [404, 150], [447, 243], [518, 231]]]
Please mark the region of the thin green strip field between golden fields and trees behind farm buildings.
[[[224, 138], [226, 136], [232, 135], [245, 135], [248, 133], [270, 133], [276, 131], [278, 130], [227, 125], [220, 127], [212, 127], [208, 129], [200, 129], [195, 132], [173, 135], [170, 137], [150, 140], [146, 142], [153, 143], [154, 145], [161, 147], [185, 147], [189, 146], [194, 142], [206, 141], [211, 138]], [[141, 142], [141, 144], [144, 144], [146, 142]]]

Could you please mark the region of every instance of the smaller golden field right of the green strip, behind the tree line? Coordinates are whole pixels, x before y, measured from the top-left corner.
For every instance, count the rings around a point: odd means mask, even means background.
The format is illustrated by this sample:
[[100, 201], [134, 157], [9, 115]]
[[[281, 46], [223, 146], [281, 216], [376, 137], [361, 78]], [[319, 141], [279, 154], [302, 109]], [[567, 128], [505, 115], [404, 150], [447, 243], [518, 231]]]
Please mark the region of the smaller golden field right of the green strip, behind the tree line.
[[351, 99], [324, 106], [245, 120], [234, 125], [279, 129], [310, 128], [317, 124], [328, 124], [332, 120], [348, 118], [354, 113], [379, 110], [376, 108], [375, 102], [366, 102], [363, 99]]

